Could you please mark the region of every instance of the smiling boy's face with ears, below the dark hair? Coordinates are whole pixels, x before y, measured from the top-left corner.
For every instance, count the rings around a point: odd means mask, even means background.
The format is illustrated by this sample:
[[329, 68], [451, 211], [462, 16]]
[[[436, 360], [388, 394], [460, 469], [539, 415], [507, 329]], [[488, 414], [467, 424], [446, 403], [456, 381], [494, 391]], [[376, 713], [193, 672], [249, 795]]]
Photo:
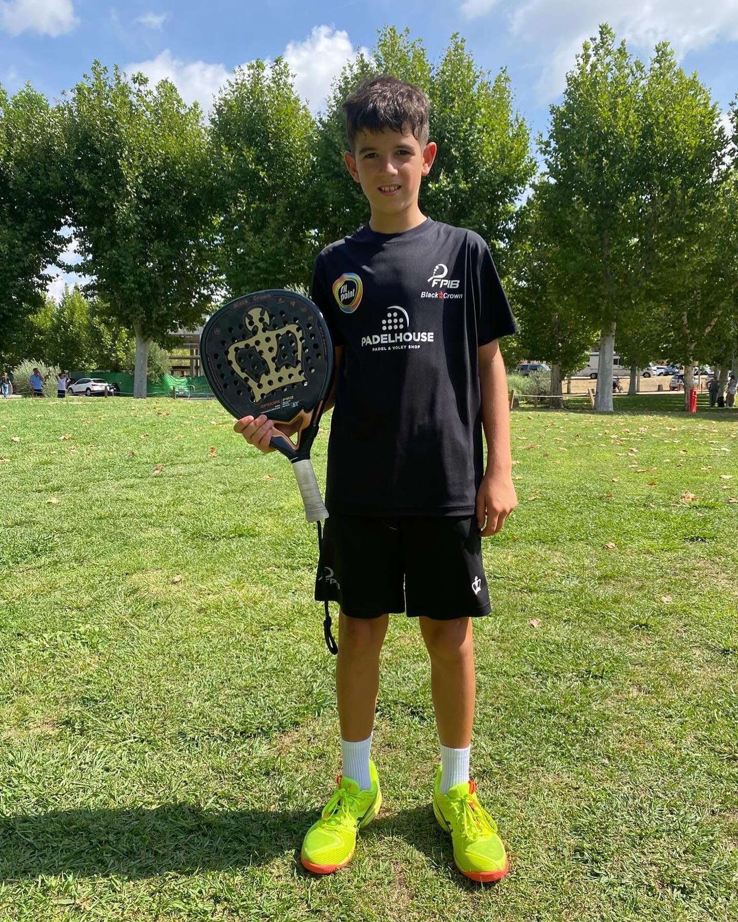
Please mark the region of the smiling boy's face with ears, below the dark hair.
[[401, 219], [418, 208], [421, 179], [427, 176], [435, 158], [433, 141], [421, 148], [411, 131], [360, 131], [353, 152], [344, 160], [348, 171], [372, 207], [372, 218], [380, 223]]

